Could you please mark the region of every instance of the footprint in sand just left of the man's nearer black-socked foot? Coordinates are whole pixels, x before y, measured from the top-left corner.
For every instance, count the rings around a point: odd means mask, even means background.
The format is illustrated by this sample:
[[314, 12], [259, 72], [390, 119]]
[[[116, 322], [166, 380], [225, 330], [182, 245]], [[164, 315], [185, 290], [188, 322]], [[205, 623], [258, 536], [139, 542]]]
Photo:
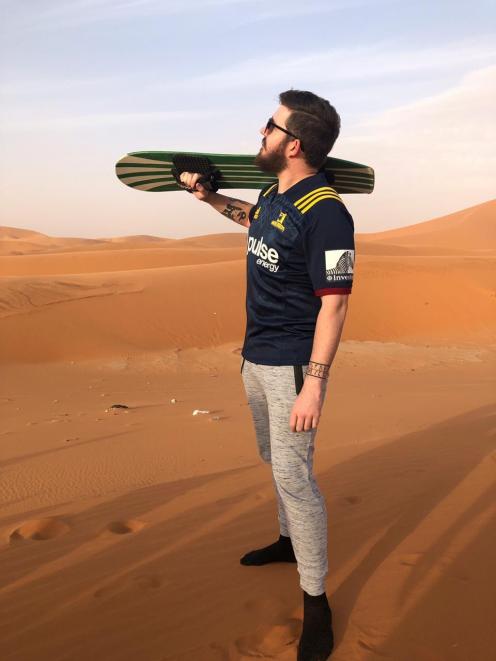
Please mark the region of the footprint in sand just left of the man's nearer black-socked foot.
[[234, 641], [238, 654], [247, 657], [272, 659], [296, 647], [302, 631], [302, 621], [291, 618], [283, 624], [264, 626], [253, 634], [242, 636]]

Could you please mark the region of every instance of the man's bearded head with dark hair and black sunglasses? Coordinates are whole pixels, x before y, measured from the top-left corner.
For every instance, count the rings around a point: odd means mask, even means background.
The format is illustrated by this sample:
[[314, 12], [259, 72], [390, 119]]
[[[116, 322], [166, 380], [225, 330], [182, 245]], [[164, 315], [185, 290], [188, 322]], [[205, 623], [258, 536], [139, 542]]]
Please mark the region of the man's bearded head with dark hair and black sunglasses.
[[339, 135], [336, 109], [312, 92], [293, 89], [281, 92], [279, 102], [269, 126], [260, 129], [264, 139], [255, 164], [264, 172], [279, 174], [299, 159], [298, 164], [319, 170]]

